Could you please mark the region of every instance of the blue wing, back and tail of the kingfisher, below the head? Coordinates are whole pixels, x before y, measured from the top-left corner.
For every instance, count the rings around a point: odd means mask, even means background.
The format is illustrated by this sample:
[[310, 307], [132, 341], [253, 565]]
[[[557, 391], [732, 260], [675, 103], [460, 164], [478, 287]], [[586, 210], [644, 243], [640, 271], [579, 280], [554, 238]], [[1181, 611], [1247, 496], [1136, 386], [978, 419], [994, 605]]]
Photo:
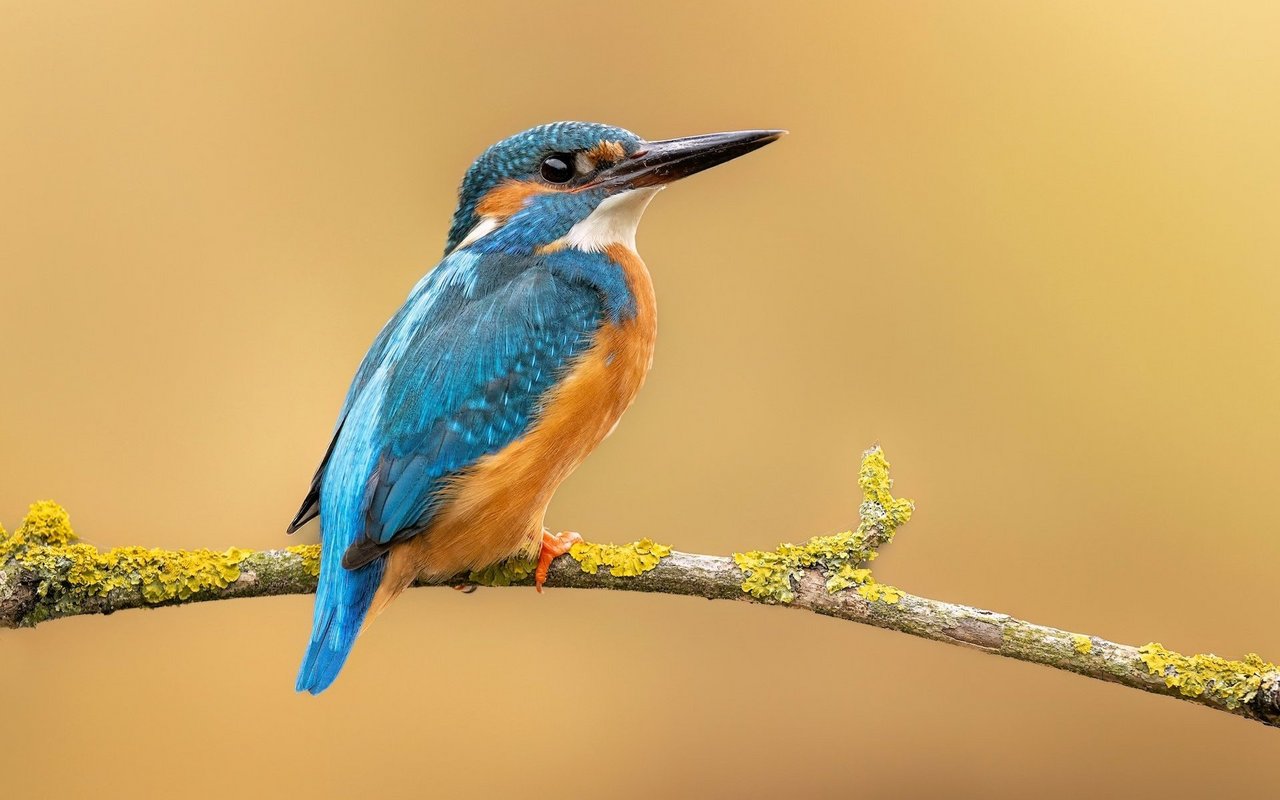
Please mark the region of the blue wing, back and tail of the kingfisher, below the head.
[[613, 306], [557, 256], [461, 251], [419, 283], [365, 356], [294, 520], [319, 511], [325, 541], [300, 690], [340, 669], [379, 556], [430, 524], [449, 476], [527, 430]]

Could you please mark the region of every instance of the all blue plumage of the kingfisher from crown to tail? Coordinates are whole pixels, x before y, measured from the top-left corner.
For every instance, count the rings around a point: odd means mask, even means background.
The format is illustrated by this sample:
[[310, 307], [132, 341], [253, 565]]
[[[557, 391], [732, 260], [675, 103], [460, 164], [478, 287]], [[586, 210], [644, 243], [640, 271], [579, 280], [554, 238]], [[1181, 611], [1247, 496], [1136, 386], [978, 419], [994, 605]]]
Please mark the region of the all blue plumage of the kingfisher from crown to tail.
[[424, 531], [451, 477], [536, 421], [547, 392], [607, 320], [635, 315], [621, 268], [602, 253], [541, 244], [564, 236], [604, 191], [534, 193], [467, 247], [480, 200], [536, 180], [552, 152], [600, 141], [635, 151], [621, 128], [553, 123], [486, 150], [462, 180], [444, 260], [413, 288], [365, 355], [333, 443], [291, 530], [320, 516], [324, 548], [300, 691], [338, 676], [383, 577], [383, 553]]

